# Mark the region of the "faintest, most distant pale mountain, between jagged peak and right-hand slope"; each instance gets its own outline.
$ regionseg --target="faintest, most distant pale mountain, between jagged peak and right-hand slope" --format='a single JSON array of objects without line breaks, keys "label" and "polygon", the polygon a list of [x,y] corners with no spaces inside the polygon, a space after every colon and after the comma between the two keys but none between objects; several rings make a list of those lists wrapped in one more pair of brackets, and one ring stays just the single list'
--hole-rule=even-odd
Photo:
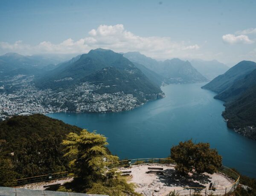
[{"label": "faintest, most distant pale mountain, between jagged peak and right-hand slope", "polygon": [[224,74],[230,68],[216,60],[203,61],[200,59],[193,59],[190,61],[190,63],[193,67],[195,67],[196,70],[198,70],[198,72],[209,80],[212,80],[218,75]]}]

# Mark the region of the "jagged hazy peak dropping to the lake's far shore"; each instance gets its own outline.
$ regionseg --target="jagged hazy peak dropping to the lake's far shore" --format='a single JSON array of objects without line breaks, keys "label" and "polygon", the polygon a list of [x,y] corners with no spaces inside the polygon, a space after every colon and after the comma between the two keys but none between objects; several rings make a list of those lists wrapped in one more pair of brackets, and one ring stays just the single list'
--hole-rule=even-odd
[{"label": "jagged hazy peak dropping to the lake's far shore", "polygon": [[160,75],[168,78],[170,83],[195,83],[208,81],[201,75],[189,61],[181,61],[178,58],[163,61]]}]

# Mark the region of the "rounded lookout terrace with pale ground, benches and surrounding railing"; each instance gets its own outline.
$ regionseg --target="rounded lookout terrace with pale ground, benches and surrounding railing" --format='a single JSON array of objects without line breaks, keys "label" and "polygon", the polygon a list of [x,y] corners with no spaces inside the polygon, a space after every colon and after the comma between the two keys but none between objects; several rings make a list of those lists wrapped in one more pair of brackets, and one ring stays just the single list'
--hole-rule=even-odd
[{"label": "rounded lookout terrace with pale ground, benches and surrounding railing", "polygon": [[166,163],[166,159],[148,159],[151,163],[145,162],[137,161],[137,164],[134,162],[128,167],[118,167],[122,175],[127,176],[128,182],[137,184],[136,192],[145,196],[168,196],[172,191],[180,196],[189,196],[194,192],[204,196],[225,195],[235,190],[239,183],[239,175],[224,166],[213,174],[181,176],[175,170],[175,164]]}]

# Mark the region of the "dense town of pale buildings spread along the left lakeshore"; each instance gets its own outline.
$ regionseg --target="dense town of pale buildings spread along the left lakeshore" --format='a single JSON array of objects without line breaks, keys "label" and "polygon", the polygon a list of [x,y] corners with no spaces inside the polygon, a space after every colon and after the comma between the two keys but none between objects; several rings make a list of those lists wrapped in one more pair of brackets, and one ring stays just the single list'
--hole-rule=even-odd
[{"label": "dense town of pale buildings spread along the left lakeshore", "polygon": [[[137,98],[124,92],[99,94],[102,84],[84,82],[62,91],[38,89],[32,77],[9,80],[9,93],[0,92],[0,121],[13,115],[51,112],[120,112],[140,106]],[[10,87],[11,85],[11,87]],[[4,89],[5,86],[2,86]]]}]

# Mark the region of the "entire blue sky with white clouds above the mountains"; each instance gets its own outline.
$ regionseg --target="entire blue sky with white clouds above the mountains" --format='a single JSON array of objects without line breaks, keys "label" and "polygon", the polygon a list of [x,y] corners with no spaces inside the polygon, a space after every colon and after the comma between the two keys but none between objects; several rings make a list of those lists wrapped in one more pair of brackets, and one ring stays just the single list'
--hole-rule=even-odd
[{"label": "entire blue sky with white clouds above the mountains", "polygon": [[256,0],[0,0],[0,55],[256,61]]}]

